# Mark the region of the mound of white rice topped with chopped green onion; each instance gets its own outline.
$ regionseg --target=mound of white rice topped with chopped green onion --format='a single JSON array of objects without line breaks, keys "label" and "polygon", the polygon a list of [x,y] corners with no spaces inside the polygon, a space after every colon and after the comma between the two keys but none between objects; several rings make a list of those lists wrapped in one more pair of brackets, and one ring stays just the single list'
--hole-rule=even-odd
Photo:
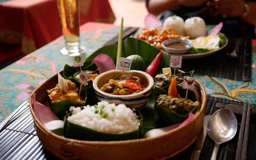
[{"label": "mound of white rice topped with chopped green onion", "polygon": [[124,104],[115,105],[107,101],[98,102],[98,105],[70,107],[72,115],[68,121],[92,130],[120,134],[129,133],[139,128],[138,116]]}]

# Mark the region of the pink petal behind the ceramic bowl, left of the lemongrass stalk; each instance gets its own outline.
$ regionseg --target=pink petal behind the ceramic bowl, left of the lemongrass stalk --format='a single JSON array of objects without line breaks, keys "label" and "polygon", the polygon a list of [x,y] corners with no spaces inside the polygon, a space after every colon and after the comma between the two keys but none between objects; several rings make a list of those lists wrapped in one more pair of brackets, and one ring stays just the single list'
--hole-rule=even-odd
[{"label": "pink petal behind the ceramic bowl, left of the lemongrass stalk", "polygon": [[92,60],[92,63],[95,63],[95,65],[99,68],[100,74],[116,68],[113,59],[104,53],[97,55],[97,57]]}]

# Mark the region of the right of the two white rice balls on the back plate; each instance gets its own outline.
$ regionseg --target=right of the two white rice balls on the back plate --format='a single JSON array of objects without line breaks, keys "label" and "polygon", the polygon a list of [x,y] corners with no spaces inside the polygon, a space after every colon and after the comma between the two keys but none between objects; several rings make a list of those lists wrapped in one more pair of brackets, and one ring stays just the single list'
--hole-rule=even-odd
[{"label": "right of the two white rice balls on the back plate", "polygon": [[206,36],[205,22],[201,17],[191,17],[186,19],[184,28],[185,34],[191,39]]}]

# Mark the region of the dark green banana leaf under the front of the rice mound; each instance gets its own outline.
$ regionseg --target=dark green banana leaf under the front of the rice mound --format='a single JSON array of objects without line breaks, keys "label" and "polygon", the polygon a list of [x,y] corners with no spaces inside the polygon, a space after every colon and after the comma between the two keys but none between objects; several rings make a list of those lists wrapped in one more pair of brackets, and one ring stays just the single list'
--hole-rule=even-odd
[{"label": "dark green banana leaf under the front of the rice mound", "polygon": [[109,134],[102,133],[81,125],[77,125],[66,120],[64,127],[64,136],[78,140],[97,140],[97,141],[118,141],[140,138],[140,130],[129,133]]}]

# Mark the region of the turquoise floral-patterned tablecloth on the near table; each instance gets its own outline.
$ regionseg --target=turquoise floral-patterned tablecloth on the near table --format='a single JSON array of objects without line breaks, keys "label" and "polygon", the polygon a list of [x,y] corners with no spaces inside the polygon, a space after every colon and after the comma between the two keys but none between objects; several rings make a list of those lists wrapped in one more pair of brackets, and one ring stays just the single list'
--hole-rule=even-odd
[{"label": "turquoise floral-patterned tablecloth on the near table", "polygon": [[[103,44],[118,34],[119,28],[100,28],[83,31],[82,45],[87,48],[87,55],[99,49]],[[34,89],[54,73],[62,70],[65,64],[72,65],[72,60],[61,55],[64,46],[63,37],[28,54],[12,65],[0,70],[0,122],[9,116],[21,103],[29,98]],[[244,101],[256,104],[256,53],[253,54],[252,79],[250,82],[231,81],[209,76],[195,77],[201,82],[212,97]]]}]

